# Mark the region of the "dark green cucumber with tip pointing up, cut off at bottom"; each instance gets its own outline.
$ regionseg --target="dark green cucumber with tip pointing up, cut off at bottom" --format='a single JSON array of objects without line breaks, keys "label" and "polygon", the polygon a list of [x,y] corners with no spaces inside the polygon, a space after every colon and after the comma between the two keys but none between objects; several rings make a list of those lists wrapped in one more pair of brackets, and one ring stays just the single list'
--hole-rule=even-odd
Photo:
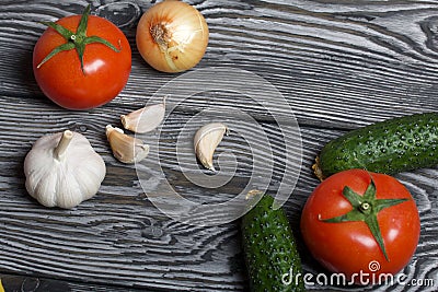
[{"label": "dark green cucumber with tip pointing up, cut off at bottom", "polygon": [[306,291],[289,221],[273,203],[274,198],[264,195],[242,219],[251,291]]}]

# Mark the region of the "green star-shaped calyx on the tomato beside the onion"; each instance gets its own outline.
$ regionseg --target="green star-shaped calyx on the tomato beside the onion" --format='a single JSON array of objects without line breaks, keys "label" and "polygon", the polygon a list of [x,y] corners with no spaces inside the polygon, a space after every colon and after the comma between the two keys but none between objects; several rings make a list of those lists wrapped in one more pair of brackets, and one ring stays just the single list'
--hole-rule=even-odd
[{"label": "green star-shaped calyx on the tomato beside the onion", "polygon": [[45,62],[51,59],[55,55],[66,51],[76,49],[81,61],[81,70],[83,71],[83,54],[85,51],[85,46],[93,43],[100,43],[105,45],[106,47],[111,48],[112,50],[119,52],[120,49],[116,48],[113,44],[108,40],[99,37],[99,36],[87,36],[87,27],[88,21],[90,15],[90,4],[85,8],[84,12],[82,13],[81,20],[79,22],[77,32],[73,33],[70,30],[64,27],[62,25],[55,23],[55,22],[42,22],[43,24],[54,28],[58,32],[67,43],[59,45],[58,47],[54,48],[42,61],[38,63],[36,68],[42,67]]}]

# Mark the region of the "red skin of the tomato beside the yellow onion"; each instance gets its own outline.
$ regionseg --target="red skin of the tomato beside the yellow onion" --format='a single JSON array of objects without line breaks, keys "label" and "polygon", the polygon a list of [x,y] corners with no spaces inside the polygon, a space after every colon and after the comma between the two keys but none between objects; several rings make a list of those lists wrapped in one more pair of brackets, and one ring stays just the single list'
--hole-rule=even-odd
[{"label": "red skin of the tomato beside the yellow onion", "polygon": [[[111,102],[124,89],[131,69],[131,50],[124,33],[110,21],[89,15],[87,36],[99,36],[119,49],[115,51],[101,43],[85,45],[83,71],[77,50],[60,51],[43,63],[42,60],[67,40],[48,27],[34,48],[33,69],[43,93],[58,105],[70,109],[88,109]],[[56,23],[72,33],[81,15],[60,19]]]}]

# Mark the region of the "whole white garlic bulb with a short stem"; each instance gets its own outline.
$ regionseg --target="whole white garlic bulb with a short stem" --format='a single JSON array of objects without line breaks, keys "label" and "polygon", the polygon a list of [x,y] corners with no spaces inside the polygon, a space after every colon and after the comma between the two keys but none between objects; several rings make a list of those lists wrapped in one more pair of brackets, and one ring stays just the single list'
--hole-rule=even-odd
[{"label": "whole white garlic bulb with a short stem", "polygon": [[97,192],[106,167],[84,136],[66,130],[35,142],[24,174],[27,192],[39,203],[70,209]]}]

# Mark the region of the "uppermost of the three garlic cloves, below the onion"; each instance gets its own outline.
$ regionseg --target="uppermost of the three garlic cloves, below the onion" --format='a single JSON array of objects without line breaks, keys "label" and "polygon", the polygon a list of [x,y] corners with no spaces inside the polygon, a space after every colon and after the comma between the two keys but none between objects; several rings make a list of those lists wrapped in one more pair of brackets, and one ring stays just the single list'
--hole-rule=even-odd
[{"label": "uppermost of the three garlic cloves, below the onion", "polygon": [[148,105],[128,115],[122,115],[120,120],[125,129],[145,133],[155,129],[163,120],[164,114],[165,97],[161,104]]}]

